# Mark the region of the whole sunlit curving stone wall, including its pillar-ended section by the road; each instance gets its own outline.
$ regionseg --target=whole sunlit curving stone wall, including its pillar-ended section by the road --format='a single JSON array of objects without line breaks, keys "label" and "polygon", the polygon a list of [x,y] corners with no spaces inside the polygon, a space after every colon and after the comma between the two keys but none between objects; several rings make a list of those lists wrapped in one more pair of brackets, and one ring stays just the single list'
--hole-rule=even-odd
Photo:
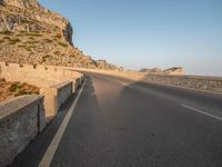
[{"label": "whole sunlit curving stone wall, including its pillar-ended section by the road", "polygon": [[62,104],[82,82],[83,75],[65,67],[0,62],[0,77],[40,87],[44,96],[46,118],[57,115]]}]

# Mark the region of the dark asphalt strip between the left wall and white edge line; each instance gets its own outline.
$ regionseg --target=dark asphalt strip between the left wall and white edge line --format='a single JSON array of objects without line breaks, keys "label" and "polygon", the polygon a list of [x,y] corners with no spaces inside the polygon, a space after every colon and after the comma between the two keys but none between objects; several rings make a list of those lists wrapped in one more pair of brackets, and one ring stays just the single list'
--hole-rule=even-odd
[{"label": "dark asphalt strip between the left wall and white edge line", "polygon": [[10,167],[34,167],[39,165],[69,108],[74,101],[78,91],[73,94],[64,105],[62,105],[54,119],[27,146],[21,154],[16,157]]}]

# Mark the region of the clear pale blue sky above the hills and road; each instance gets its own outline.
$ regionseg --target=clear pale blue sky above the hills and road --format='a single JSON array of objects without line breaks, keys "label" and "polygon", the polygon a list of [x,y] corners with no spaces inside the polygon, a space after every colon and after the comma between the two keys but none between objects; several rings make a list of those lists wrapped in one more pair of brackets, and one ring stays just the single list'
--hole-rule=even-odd
[{"label": "clear pale blue sky above the hills and road", "polygon": [[222,76],[222,0],[39,0],[68,18],[73,43],[125,69]]}]

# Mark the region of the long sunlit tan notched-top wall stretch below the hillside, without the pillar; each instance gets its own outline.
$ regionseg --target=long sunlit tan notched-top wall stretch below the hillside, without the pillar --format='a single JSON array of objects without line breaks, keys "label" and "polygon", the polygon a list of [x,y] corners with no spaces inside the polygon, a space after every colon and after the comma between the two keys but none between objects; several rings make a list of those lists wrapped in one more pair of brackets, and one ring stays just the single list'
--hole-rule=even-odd
[{"label": "long sunlit tan notched-top wall stretch below the hillside, without the pillar", "polygon": [[38,87],[58,85],[80,73],[56,66],[33,66],[0,62],[0,77],[8,81],[22,81]]}]

